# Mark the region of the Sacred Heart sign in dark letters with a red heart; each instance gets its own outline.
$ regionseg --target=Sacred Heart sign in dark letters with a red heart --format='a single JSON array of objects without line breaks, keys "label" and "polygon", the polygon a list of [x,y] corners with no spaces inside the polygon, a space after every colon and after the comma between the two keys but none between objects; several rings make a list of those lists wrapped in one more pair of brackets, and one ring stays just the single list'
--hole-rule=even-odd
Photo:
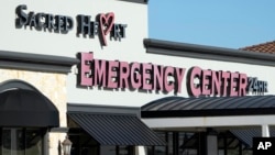
[{"label": "Sacred Heart sign in dark letters with a red heart", "polygon": [[[55,33],[69,33],[75,25],[75,20],[68,15],[52,14],[34,11],[28,11],[25,4],[18,5],[15,9],[15,26],[18,29],[30,26],[31,30],[48,31]],[[107,37],[121,41],[125,37],[127,24],[114,23],[114,13],[99,13],[95,20],[90,15],[76,15],[77,32],[76,35],[94,38],[99,36],[102,46],[107,46]]]}]

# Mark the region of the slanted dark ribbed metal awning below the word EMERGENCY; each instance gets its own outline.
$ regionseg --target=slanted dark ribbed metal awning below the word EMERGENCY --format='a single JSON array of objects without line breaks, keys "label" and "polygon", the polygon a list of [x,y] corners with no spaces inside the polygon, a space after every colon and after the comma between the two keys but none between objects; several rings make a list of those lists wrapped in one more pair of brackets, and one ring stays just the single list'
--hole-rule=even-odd
[{"label": "slanted dark ribbed metal awning below the word EMERGENCY", "polygon": [[100,145],[165,145],[136,115],[68,112]]}]

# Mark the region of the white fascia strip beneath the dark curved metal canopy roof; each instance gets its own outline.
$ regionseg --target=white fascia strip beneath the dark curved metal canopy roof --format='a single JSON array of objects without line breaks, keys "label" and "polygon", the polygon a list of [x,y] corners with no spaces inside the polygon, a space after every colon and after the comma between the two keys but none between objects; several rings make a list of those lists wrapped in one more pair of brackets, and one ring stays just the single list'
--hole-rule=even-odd
[{"label": "white fascia strip beneath the dark curved metal canopy roof", "polygon": [[271,115],[230,115],[230,117],[190,117],[190,118],[153,118],[142,119],[151,129],[197,129],[205,128],[243,128],[275,125],[275,114]]}]

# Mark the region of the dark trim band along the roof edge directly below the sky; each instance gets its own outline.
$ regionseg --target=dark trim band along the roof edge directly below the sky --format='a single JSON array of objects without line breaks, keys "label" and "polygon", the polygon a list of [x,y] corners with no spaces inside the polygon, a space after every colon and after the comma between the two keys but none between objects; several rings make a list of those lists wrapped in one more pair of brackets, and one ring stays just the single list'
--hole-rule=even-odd
[{"label": "dark trim band along the roof edge directly below the sky", "polygon": [[191,58],[275,66],[275,55],[187,43],[144,38],[146,52]]}]

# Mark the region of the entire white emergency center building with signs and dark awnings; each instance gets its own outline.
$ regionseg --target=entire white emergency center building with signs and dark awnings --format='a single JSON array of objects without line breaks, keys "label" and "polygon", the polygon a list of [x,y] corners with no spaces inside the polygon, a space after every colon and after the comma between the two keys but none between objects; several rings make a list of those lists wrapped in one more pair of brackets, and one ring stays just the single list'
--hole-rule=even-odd
[{"label": "entire white emergency center building with signs and dark awnings", "polygon": [[15,0],[0,19],[1,155],[61,155],[66,135],[72,155],[251,154],[272,134],[272,54],[147,38],[144,0]]}]

